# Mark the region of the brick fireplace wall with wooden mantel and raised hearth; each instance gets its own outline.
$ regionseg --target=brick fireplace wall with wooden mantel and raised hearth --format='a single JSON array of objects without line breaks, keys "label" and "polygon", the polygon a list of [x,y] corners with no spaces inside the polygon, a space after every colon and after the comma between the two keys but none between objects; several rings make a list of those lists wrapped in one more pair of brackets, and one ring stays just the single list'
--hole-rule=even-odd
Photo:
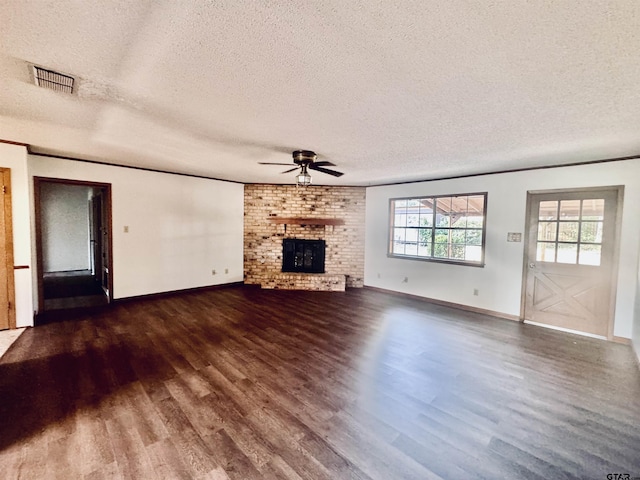
[{"label": "brick fireplace wall with wooden mantel and raised hearth", "polygon": [[[263,288],[362,287],[365,189],[245,185],[244,281]],[[324,273],[283,272],[283,240],[322,240]]]}]

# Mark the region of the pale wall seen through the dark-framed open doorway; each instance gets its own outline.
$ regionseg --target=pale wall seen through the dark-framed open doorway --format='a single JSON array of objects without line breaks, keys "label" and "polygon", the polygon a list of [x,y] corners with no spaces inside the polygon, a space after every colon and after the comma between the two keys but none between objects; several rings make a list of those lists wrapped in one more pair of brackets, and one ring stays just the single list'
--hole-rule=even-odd
[{"label": "pale wall seen through the dark-framed open doorway", "polygon": [[40,217],[45,272],[90,270],[89,187],[42,183]]}]

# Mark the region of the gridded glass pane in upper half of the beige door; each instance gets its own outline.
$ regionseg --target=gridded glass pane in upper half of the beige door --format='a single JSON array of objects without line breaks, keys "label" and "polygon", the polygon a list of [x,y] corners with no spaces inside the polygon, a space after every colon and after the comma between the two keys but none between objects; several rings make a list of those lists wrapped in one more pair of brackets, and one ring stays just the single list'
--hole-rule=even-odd
[{"label": "gridded glass pane in upper half of the beige door", "polygon": [[538,262],[600,265],[604,199],[541,201]]}]

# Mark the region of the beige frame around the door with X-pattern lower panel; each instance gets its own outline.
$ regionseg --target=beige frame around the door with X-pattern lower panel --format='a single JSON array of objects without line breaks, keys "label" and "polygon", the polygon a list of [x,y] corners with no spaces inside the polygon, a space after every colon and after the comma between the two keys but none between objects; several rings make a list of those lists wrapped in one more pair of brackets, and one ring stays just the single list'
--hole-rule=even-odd
[{"label": "beige frame around the door with X-pattern lower panel", "polygon": [[[531,234],[531,207],[533,203],[533,197],[535,195],[547,195],[558,193],[575,193],[575,192],[600,192],[603,190],[614,190],[617,192],[616,198],[616,214],[615,225],[613,229],[613,257],[611,265],[611,278],[609,284],[611,285],[609,291],[609,307],[607,309],[607,340],[616,341],[617,337],[613,334],[615,323],[615,311],[616,311],[616,296],[618,292],[618,268],[620,265],[620,232],[622,228],[622,208],[624,200],[624,185],[607,185],[597,187],[576,187],[576,188],[557,188],[548,190],[528,190],[527,191],[527,204],[525,210],[525,226],[524,226],[524,253],[522,257],[522,292],[520,294],[520,322],[525,321],[525,305],[527,296],[527,268],[529,259],[529,235]],[[598,337],[600,338],[600,337]]]}]

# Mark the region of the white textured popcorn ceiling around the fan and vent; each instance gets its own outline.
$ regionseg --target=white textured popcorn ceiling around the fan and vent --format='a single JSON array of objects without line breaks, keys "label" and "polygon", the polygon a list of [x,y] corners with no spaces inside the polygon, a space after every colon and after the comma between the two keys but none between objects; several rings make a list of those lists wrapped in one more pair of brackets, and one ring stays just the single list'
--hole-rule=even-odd
[{"label": "white textured popcorn ceiling around the fan and vent", "polygon": [[[0,2],[0,139],[291,183],[369,185],[640,153],[637,0]],[[36,87],[30,64],[76,93]]]}]

